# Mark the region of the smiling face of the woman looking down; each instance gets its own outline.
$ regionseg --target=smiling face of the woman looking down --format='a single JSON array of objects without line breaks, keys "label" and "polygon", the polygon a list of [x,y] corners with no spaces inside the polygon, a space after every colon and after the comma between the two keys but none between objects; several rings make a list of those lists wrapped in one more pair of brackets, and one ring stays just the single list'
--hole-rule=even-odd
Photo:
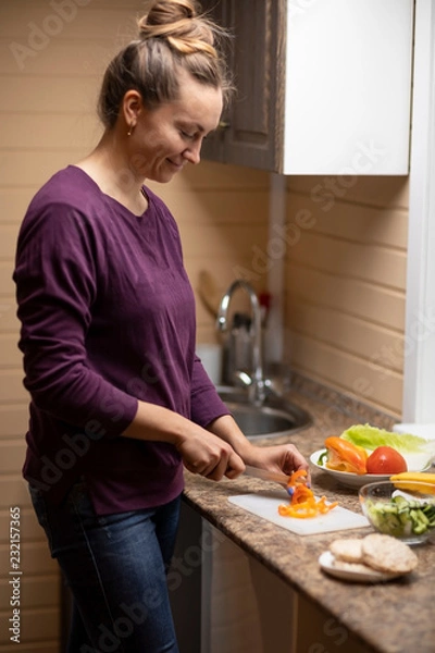
[{"label": "smiling face of the woman looking down", "polygon": [[128,138],[130,165],[142,178],[165,183],[186,163],[199,163],[202,139],[217,127],[222,91],[183,71],[179,98],[148,110],[144,106]]}]

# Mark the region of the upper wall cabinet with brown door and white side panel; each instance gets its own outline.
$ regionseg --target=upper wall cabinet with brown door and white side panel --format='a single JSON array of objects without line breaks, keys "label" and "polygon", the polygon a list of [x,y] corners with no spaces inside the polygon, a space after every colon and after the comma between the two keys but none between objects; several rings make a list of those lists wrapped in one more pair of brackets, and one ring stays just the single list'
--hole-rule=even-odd
[{"label": "upper wall cabinet with brown door and white side panel", "polygon": [[206,0],[237,95],[203,158],[284,174],[408,174],[413,0]]}]

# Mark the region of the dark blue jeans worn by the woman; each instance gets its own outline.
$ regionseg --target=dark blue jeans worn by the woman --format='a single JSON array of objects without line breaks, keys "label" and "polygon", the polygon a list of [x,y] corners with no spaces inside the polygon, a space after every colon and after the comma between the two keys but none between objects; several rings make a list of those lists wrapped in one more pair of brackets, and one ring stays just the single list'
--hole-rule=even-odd
[{"label": "dark blue jeans worn by the woman", "polygon": [[67,652],[177,653],[166,570],[181,497],[98,517],[83,482],[60,507],[30,495],[74,597]]}]

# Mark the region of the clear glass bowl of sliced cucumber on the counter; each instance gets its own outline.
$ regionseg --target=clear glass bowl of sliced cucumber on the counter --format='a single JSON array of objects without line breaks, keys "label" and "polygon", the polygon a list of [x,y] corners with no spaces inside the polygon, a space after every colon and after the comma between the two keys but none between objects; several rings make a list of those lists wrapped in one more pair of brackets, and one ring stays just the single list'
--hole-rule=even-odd
[{"label": "clear glass bowl of sliced cucumber on the counter", "polygon": [[411,545],[435,537],[435,483],[410,479],[368,483],[360,488],[359,500],[380,533]]}]

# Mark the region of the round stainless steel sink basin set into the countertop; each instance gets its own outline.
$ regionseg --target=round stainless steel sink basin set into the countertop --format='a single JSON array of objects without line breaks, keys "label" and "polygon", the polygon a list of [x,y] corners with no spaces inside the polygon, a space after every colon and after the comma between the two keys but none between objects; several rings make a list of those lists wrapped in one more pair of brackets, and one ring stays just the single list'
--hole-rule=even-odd
[{"label": "round stainless steel sink basin set into the countertop", "polygon": [[311,423],[306,410],[275,395],[268,394],[262,406],[254,406],[241,389],[217,386],[217,393],[249,440],[293,435]]}]

